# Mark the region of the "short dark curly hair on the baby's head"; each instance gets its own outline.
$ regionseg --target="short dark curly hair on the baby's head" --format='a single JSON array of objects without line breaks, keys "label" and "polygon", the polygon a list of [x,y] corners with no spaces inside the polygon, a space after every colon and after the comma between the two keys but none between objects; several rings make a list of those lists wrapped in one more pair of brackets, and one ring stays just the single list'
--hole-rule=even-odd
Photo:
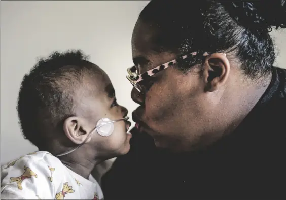
[{"label": "short dark curly hair on the baby's head", "polygon": [[81,50],[55,51],[40,58],[21,83],[18,117],[25,139],[42,146],[45,130],[55,130],[74,116],[74,96],[92,63]]}]

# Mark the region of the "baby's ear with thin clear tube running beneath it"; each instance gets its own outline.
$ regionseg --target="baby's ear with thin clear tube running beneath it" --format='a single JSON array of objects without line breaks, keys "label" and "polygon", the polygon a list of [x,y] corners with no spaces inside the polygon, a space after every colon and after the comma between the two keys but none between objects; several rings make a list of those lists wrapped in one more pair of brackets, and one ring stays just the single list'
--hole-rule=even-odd
[{"label": "baby's ear with thin clear tube running beneath it", "polygon": [[[85,120],[80,117],[68,117],[64,120],[63,130],[66,137],[73,143],[79,145],[88,136],[90,130],[85,123]],[[90,142],[91,138],[86,141]]]}]

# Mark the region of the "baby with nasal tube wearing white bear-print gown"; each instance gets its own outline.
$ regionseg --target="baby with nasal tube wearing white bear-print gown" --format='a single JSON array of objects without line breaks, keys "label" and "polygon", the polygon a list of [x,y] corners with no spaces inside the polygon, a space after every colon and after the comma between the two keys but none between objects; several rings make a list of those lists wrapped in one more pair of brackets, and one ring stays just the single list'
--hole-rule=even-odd
[{"label": "baby with nasal tube wearing white bear-print gown", "polygon": [[1,199],[103,199],[90,173],[132,137],[108,75],[80,50],[54,52],[24,76],[17,110],[39,151],[2,167]]}]

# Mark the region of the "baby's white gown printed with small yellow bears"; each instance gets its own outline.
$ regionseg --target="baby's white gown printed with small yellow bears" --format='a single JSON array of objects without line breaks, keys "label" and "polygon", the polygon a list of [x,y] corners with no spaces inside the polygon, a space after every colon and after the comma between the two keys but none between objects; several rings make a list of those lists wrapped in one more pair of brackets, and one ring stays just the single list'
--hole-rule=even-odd
[{"label": "baby's white gown printed with small yellow bears", "polygon": [[103,199],[103,194],[94,179],[69,170],[49,152],[38,151],[1,168],[1,199]]}]

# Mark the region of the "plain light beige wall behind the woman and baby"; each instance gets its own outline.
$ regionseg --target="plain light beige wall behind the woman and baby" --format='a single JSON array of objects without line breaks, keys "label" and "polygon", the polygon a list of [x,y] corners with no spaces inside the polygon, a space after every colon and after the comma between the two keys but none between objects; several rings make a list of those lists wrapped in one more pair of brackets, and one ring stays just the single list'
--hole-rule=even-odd
[{"label": "plain light beige wall behind the woman and baby", "polygon": [[[118,103],[129,116],[137,105],[125,78],[131,66],[131,35],[149,1],[1,2],[1,164],[37,150],[24,140],[16,111],[20,83],[37,57],[54,50],[82,49],[111,78]],[[273,31],[286,67],[286,32]],[[282,56],[284,55],[284,56]],[[134,123],[132,123],[134,125]]]}]

